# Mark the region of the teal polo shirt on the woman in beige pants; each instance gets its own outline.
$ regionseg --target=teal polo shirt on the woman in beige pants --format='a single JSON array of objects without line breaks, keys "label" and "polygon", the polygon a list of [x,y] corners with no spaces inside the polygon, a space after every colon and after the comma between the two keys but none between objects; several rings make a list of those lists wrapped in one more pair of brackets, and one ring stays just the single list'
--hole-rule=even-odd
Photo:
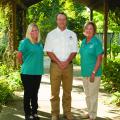
[{"label": "teal polo shirt on the woman in beige pants", "polygon": [[[83,39],[80,47],[81,75],[83,77],[91,76],[96,65],[97,57],[103,53],[102,43],[96,36],[93,36],[88,43],[86,42],[86,38]],[[101,76],[101,74],[102,68],[100,66],[95,76]]]}]

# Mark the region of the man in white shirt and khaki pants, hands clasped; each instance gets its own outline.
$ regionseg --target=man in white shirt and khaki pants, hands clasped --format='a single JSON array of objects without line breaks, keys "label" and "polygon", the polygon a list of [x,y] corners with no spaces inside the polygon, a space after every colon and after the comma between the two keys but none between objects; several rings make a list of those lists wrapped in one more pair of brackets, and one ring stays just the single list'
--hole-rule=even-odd
[{"label": "man in white shirt and khaki pants, hands clasped", "polygon": [[77,37],[66,28],[67,16],[59,13],[56,16],[57,28],[48,33],[44,51],[51,59],[51,114],[52,120],[59,120],[60,85],[63,88],[63,114],[67,120],[73,120],[71,114],[71,90],[73,82],[72,60],[77,53]]}]

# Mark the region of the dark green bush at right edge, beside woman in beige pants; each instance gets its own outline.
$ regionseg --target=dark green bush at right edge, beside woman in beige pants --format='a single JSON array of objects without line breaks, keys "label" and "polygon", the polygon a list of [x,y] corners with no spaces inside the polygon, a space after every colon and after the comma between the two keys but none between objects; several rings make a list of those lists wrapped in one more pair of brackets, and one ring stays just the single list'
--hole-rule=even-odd
[{"label": "dark green bush at right edge, beside woman in beige pants", "polygon": [[108,60],[103,69],[102,82],[106,91],[120,92],[120,58]]}]

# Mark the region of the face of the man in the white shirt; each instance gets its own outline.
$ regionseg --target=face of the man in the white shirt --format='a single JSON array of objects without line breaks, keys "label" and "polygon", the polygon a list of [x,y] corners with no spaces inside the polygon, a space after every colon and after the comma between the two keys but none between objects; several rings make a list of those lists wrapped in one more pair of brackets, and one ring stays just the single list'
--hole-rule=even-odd
[{"label": "face of the man in the white shirt", "polygon": [[66,16],[59,14],[57,16],[57,26],[61,29],[64,30],[66,28],[66,24],[67,24],[67,20],[66,20]]}]

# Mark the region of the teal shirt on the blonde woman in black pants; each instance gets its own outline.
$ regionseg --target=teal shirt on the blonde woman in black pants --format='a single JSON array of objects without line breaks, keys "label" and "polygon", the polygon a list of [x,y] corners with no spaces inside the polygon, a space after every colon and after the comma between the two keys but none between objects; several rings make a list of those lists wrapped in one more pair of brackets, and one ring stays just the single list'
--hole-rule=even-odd
[{"label": "teal shirt on the blonde woman in black pants", "polygon": [[18,51],[22,52],[23,64],[21,74],[43,74],[43,46],[40,43],[33,44],[27,38],[20,41]]}]

